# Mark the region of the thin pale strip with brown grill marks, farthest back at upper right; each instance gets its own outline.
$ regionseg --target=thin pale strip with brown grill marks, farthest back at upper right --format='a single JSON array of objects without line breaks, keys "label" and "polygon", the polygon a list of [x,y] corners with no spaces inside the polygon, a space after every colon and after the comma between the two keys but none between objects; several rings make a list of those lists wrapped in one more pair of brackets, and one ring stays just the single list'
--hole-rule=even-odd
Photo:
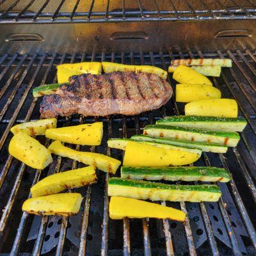
[{"label": "thin pale strip with brown grill marks, farthest back at upper right", "polygon": [[232,61],[230,59],[188,59],[188,60],[172,60],[173,66],[221,66],[232,67]]}]

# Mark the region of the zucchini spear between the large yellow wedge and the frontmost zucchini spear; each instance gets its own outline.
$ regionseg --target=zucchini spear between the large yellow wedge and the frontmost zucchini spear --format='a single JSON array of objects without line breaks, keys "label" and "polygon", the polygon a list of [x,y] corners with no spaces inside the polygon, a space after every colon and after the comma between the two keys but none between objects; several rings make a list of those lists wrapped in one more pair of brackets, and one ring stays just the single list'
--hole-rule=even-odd
[{"label": "zucchini spear between the large yellow wedge and the frontmost zucchini spear", "polygon": [[122,166],[121,177],[135,180],[184,180],[205,182],[228,182],[230,175],[224,168],[217,167],[128,167]]}]

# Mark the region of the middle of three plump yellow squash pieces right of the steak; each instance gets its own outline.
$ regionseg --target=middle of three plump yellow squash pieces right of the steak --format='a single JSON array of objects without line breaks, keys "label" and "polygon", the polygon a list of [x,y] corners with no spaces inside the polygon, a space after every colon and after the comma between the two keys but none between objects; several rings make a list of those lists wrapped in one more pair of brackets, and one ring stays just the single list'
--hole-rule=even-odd
[{"label": "middle of three plump yellow squash pieces right of the steak", "polygon": [[176,101],[191,102],[204,99],[220,99],[221,92],[211,85],[176,84]]}]

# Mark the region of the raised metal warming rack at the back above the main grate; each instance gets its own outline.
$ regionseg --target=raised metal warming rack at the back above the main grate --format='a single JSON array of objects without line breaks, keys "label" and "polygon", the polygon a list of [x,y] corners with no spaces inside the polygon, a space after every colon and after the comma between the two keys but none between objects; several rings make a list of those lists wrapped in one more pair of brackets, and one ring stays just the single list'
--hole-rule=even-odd
[{"label": "raised metal warming rack at the back above the main grate", "polygon": [[255,18],[255,0],[0,1],[0,23],[8,24]]}]

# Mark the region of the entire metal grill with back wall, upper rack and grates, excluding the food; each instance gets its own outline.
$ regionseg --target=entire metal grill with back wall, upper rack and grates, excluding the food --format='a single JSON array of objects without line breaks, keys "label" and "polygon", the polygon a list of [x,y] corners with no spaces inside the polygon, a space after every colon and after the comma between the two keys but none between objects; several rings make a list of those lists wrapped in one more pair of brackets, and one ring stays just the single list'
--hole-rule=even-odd
[{"label": "entire metal grill with back wall, upper rack and grates, excluding the food", "polygon": [[[255,0],[0,0],[0,256],[256,255],[255,19]],[[56,65],[113,61],[167,70],[170,61],[179,58],[233,62],[212,81],[222,97],[236,99],[239,116],[248,125],[236,148],[225,155],[204,153],[195,163],[230,172],[230,182],[218,182],[219,202],[158,202],[188,213],[184,223],[113,221],[108,215],[109,174],[97,171],[97,184],[72,190],[84,196],[77,216],[21,211],[38,180],[83,166],[53,156],[52,164],[40,171],[8,154],[10,128],[40,118],[42,99],[33,98],[32,90],[56,83]],[[168,81],[174,89],[172,76]],[[138,116],[74,115],[58,118],[58,127],[103,121],[100,146],[67,147],[122,161],[120,150],[107,147],[108,138],[129,138],[164,116],[183,114],[184,104],[172,97],[162,108]],[[51,143],[44,136],[38,140],[45,146]]]}]

